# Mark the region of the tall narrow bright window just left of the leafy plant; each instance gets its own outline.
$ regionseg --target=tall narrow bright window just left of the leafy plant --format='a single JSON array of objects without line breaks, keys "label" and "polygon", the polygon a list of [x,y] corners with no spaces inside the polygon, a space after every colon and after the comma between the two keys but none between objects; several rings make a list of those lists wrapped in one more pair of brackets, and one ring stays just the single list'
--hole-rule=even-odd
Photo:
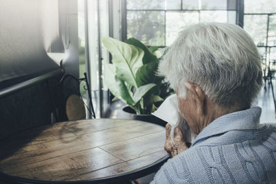
[{"label": "tall narrow bright window just left of the leafy plant", "polygon": [[[103,83],[102,75],[103,63],[109,63],[109,54],[99,43],[99,38],[109,36],[108,0],[78,0],[78,8],[79,76],[83,77],[83,72],[90,73],[89,90],[96,117],[99,118],[109,106],[108,88]],[[80,87],[81,94],[88,98],[83,85]]]}]

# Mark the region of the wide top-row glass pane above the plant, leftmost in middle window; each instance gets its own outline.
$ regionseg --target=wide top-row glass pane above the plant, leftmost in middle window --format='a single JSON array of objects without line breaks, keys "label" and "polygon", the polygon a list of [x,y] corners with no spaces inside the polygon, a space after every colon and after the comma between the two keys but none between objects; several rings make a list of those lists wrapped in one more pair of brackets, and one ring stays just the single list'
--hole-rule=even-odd
[{"label": "wide top-row glass pane above the plant, leftmost in middle window", "polygon": [[126,0],[127,10],[164,10],[165,0]]}]

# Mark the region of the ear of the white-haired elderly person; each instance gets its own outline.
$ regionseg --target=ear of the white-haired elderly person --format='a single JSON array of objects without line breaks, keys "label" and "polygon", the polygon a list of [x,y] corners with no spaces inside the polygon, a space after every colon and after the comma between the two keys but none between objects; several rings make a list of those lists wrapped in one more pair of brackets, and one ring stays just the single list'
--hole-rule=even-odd
[{"label": "ear of the white-haired elderly person", "polygon": [[204,99],[205,99],[204,91],[201,90],[201,88],[198,85],[193,83],[184,82],[184,85],[187,88],[187,90],[189,90],[193,94],[193,98],[195,99],[197,114],[199,114],[199,116],[203,116]]}]

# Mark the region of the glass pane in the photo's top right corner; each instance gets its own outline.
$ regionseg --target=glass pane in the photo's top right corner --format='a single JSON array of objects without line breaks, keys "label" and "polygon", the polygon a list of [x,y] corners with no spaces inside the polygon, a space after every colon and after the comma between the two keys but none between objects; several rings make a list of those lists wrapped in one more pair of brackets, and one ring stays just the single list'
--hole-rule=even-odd
[{"label": "glass pane in the photo's top right corner", "polygon": [[275,10],[275,0],[244,0],[244,13],[274,13]]}]

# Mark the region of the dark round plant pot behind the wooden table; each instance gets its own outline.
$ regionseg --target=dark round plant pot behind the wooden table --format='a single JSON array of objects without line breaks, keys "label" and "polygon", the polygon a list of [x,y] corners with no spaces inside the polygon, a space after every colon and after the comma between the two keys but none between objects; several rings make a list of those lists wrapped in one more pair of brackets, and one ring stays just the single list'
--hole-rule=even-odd
[{"label": "dark round plant pot behind the wooden table", "polygon": [[147,121],[164,127],[166,127],[166,124],[167,124],[166,121],[163,121],[157,118],[157,116],[153,116],[152,114],[136,114],[135,110],[132,110],[132,108],[130,108],[129,106],[126,106],[122,109],[121,118]]}]

